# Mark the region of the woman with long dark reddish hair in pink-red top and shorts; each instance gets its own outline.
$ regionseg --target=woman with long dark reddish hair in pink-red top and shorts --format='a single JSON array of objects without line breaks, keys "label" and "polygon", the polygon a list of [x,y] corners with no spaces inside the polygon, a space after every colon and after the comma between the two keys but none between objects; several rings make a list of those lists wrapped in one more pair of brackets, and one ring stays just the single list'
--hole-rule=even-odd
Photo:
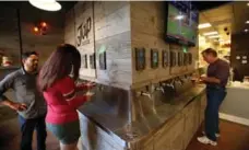
[{"label": "woman with long dark reddish hair in pink-red top and shorts", "polygon": [[[84,104],[91,95],[75,95],[76,90],[87,89],[86,85],[75,86],[79,77],[81,55],[69,44],[57,47],[43,66],[38,86],[47,102],[46,125],[60,141],[61,150],[76,150],[80,138],[80,123],[76,108]],[[72,73],[72,77],[70,74]]]}]

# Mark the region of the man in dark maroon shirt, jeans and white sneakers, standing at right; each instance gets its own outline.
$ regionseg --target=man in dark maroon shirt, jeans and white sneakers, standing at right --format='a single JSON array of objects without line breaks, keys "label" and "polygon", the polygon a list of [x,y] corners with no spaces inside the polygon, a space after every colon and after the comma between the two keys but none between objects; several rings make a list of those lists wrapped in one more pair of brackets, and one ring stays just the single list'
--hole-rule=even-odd
[{"label": "man in dark maroon shirt, jeans and white sneakers, standing at right", "polygon": [[226,84],[229,78],[229,65],[217,57],[217,53],[208,48],[202,51],[204,60],[209,64],[206,77],[201,80],[206,84],[205,132],[198,140],[205,145],[216,146],[220,136],[218,108],[226,96]]}]

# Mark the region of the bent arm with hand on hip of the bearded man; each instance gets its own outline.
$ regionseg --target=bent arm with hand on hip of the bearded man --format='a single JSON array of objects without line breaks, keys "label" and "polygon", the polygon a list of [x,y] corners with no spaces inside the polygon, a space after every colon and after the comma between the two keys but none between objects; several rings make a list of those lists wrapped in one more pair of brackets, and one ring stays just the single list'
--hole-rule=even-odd
[{"label": "bent arm with hand on hip of the bearded man", "polygon": [[10,101],[5,95],[5,91],[9,89],[13,89],[14,83],[14,74],[8,74],[3,80],[0,81],[0,104],[11,107],[15,111],[24,111],[26,109],[25,104],[15,103]]}]

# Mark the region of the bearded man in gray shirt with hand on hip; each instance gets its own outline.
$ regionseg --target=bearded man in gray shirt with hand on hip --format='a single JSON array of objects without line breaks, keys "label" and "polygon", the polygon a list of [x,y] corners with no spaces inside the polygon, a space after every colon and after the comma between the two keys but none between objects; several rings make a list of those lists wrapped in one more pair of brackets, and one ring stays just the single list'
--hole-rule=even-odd
[{"label": "bearded man in gray shirt with hand on hip", "polygon": [[[23,68],[8,74],[0,81],[0,104],[7,105],[19,113],[22,131],[21,150],[32,150],[34,129],[37,131],[37,148],[46,150],[46,104],[36,88],[38,55],[35,51],[24,53]],[[12,89],[16,102],[3,95]]]}]

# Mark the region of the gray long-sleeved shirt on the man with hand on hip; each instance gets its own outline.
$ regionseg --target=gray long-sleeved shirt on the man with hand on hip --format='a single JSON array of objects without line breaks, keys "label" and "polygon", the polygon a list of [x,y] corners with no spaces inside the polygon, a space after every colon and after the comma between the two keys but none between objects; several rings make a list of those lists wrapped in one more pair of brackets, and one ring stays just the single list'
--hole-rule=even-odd
[{"label": "gray long-sleeved shirt on the man with hand on hip", "polygon": [[3,95],[9,89],[13,89],[16,101],[24,103],[27,109],[17,112],[24,118],[37,118],[44,116],[47,112],[46,103],[40,92],[36,86],[36,74],[31,74],[19,69],[8,74],[0,82],[0,101],[7,100]]}]

